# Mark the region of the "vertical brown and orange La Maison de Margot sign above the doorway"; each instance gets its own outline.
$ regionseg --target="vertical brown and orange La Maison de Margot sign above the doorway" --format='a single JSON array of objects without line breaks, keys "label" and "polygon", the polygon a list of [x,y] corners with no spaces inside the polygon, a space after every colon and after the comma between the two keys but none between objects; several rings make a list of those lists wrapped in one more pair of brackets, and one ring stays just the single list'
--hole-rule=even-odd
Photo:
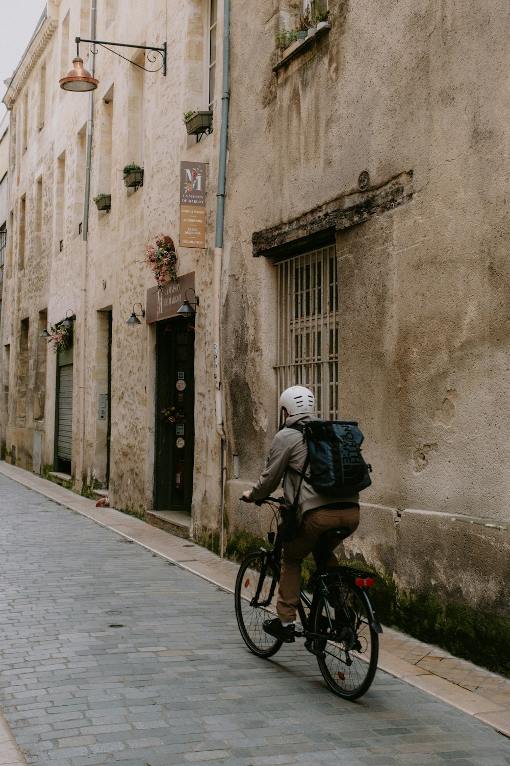
[{"label": "vertical brown and orange La Maison de Margot sign above the doorway", "polygon": [[206,163],[180,163],[180,247],[206,247]]}]

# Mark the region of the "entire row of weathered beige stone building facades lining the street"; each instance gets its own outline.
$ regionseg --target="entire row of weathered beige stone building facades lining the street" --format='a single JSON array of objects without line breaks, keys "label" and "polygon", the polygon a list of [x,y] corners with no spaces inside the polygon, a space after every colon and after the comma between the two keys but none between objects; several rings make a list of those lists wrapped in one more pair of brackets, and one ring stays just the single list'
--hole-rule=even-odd
[{"label": "entire row of weathered beige stone building facades lining the street", "polygon": [[[167,41],[166,77],[99,48],[93,96],[59,89],[96,5],[96,39]],[[219,3],[217,16],[213,0],[151,0],[132,40],[136,5],[50,0],[5,94],[6,459],[107,487],[117,508],[188,513],[195,538],[264,534],[239,496],[264,465],[279,391],[302,382],[323,417],[359,421],[374,466],[346,557],[401,591],[508,617],[505,3],[338,0],[284,50],[274,35],[297,25],[299,0]],[[208,106],[213,133],[197,142],[182,113]],[[144,167],[136,191],[128,162]],[[153,310],[144,245],[179,241],[181,162],[206,165],[206,247],[177,250],[200,297],[194,332],[164,316],[126,326]],[[109,213],[91,202],[100,191]],[[39,336],[67,312],[73,345],[55,355]],[[168,424],[171,407],[184,417]]]}]

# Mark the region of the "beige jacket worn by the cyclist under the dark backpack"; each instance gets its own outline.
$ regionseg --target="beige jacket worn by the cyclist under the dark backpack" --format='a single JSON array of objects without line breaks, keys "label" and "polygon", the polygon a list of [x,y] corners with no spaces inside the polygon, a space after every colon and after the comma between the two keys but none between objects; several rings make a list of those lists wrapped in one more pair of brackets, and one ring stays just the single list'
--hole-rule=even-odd
[{"label": "beige jacket worn by the cyclist under the dark backpack", "polygon": [[[299,487],[300,472],[303,470],[308,450],[303,434],[290,426],[294,425],[294,423],[304,424],[315,420],[317,420],[317,417],[310,414],[287,417],[284,428],[279,430],[273,439],[265,470],[259,476],[250,493],[251,500],[263,500],[271,495],[275,489],[278,489],[283,477],[285,502],[289,505],[294,502],[294,497]],[[300,489],[299,505],[297,507],[297,522],[300,524],[304,513],[307,511],[311,511],[313,508],[328,506],[332,502],[359,504],[359,493],[349,497],[320,495],[307,480],[303,480]]]}]

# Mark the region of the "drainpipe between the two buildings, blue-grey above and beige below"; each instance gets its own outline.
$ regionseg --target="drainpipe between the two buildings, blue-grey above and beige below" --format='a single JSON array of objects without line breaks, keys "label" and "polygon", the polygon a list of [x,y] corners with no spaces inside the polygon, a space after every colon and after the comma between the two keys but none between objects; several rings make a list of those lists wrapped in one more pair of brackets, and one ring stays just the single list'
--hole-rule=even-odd
[{"label": "drainpipe between the two buildings, blue-grey above and beige below", "polygon": [[213,351],[214,381],[216,396],[216,431],[222,440],[221,449],[221,506],[219,530],[219,554],[223,557],[223,525],[225,516],[225,473],[226,473],[226,436],[223,429],[223,407],[221,398],[221,275],[223,262],[223,223],[225,219],[225,178],[226,178],[226,143],[229,130],[229,83],[230,83],[230,0],[223,5],[223,85],[222,113],[219,133],[218,191],[216,193],[216,242],[214,247],[213,269]]}]

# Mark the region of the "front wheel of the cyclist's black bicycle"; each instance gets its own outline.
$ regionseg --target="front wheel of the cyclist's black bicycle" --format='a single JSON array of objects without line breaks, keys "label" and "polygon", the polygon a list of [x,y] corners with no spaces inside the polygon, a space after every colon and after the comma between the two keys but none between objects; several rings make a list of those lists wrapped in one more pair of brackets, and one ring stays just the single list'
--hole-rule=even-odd
[{"label": "front wheel of the cyclist's black bicycle", "polygon": [[242,639],[258,657],[271,657],[281,647],[262,627],[276,615],[277,590],[278,573],[268,555],[258,551],[247,556],[236,579],[236,617]]}]

